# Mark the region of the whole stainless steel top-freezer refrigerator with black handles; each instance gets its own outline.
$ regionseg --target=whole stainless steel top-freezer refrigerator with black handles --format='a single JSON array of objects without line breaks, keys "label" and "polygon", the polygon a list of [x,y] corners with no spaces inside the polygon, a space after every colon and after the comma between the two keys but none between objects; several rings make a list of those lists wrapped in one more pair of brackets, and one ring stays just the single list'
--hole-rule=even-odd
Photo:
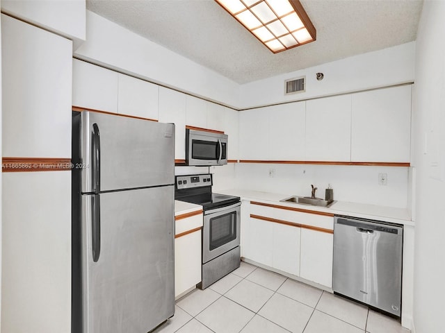
[{"label": "whole stainless steel top-freezer refrigerator with black handles", "polygon": [[146,333],[175,311],[175,126],[72,120],[72,333]]}]

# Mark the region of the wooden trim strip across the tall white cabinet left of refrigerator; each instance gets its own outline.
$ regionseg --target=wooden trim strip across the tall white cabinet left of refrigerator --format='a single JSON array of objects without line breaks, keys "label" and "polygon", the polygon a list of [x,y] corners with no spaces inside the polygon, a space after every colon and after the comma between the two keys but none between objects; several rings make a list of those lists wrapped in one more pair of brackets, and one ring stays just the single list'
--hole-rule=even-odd
[{"label": "wooden trim strip across the tall white cabinet left of refrigerator", "polygon": [[2,157],[1,172],[71,171],[70,158]]}]

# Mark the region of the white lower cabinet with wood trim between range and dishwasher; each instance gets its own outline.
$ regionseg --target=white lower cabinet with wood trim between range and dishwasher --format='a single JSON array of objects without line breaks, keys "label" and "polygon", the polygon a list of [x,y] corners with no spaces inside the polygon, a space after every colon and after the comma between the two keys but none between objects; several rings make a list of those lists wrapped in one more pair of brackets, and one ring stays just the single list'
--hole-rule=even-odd
[{"label": "white lower cabinet with wood trim between range and dishwasher", "polygon": [[243,257],[332,288],[334,216],[243,201]]}]

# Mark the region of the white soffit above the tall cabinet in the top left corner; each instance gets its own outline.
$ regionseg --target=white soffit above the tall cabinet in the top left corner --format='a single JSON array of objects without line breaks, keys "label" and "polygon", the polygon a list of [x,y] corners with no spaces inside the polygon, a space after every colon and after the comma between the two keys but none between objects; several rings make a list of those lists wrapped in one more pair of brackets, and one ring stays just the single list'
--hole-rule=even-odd
[{"label": "white soffit above the tall cabinet in the top left corner", "polygon": [[74,42],[85,40],[86,0],[2,0],[1,12]]}]

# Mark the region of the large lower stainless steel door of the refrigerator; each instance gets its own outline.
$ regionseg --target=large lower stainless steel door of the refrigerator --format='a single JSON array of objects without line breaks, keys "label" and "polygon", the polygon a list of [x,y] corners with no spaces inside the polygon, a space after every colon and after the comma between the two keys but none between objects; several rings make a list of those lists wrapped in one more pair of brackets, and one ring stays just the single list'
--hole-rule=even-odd
[{"label": "large lower stainless steel door of the refrigerator", "polygon": [[83,333],[146,333],[175,311],[174,188],[99,196],[97,261],[95,199],[82,196]]}]

